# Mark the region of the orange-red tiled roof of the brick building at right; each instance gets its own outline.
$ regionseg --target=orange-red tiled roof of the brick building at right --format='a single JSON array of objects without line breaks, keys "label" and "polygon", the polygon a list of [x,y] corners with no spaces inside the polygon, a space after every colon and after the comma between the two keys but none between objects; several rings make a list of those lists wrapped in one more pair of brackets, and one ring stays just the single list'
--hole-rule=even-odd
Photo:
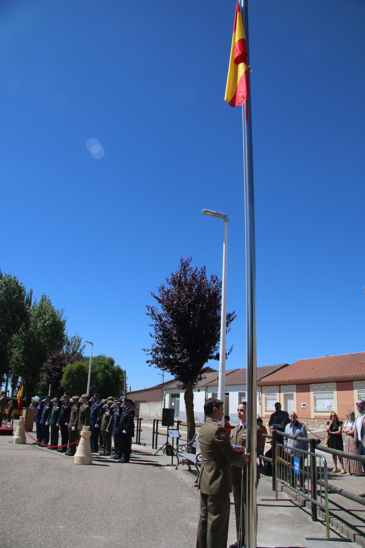
[{"label": "orange-red tiled roof of the brick building at right", "polygon": [[275,373],[265,376],[260,384],[282,384],[293,381],[341,379],[362,376],[365,379],[365,352],[298,359]]}]

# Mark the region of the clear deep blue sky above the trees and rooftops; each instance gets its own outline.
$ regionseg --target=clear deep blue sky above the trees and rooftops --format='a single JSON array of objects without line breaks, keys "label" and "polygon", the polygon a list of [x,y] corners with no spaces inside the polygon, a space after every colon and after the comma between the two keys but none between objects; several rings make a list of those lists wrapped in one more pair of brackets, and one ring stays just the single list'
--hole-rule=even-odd
[{"label": "clear deep blue sky above the trees and rooftops", "polygon": [[[249,9],[258,366],[362,351],[365,3]],[[0,267],[64,307],[132,390],[160,381],[142,351],[149,291],[181,256],[222,276],[223,222],[203,208],[229,215],[227,368],[245,367],[241,110],[223,101],[234,13],[0,7]]]}]

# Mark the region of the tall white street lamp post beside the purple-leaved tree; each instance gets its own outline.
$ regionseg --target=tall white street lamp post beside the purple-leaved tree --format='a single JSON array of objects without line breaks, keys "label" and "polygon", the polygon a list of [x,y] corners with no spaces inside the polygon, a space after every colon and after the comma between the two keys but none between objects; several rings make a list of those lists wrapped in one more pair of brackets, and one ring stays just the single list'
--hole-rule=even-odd
[{"label": "tall white street lamp post beside the purple-leaved tree", "polygon": [[[221,340],[219,343],[219,377],[218,377],[218,399],[223,402],[223,410],[225,403],[225,337],[227,331],[227,224],[228,215],[219,213],[211,209],[203,209],[202,214],[210,215],[223,219],[224,236],[223,236],[223,273],[222,273],[222,309],[221,309]],[[224,424],[224,415],[221,421]]]}]

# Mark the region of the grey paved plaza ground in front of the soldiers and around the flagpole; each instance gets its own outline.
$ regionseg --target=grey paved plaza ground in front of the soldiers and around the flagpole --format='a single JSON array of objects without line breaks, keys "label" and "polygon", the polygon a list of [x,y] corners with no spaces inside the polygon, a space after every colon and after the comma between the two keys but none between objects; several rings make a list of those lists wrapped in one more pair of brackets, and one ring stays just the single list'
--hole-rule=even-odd
[{"label": "grey paved plaza ground in front of the soldiers and around the flagpole", "polygon": [[[195,546],[199,493],[186,467],[175,471],[171,458],[153,456],[148,447],[133,446],[129,464],[96,456],[93,464],[74,465],[72,458],[0,437],[2,548],[88,548],[122,544],[134,547]],[[175,460],[175,459],[174,459]],[[262,547],[324,546],[322,522],[284,493],[273,498],[271,482],[258,488],[258,538]],[[331,531],[333,548],[343,546]],[[228,542],[235,541],[234,506]]]}]

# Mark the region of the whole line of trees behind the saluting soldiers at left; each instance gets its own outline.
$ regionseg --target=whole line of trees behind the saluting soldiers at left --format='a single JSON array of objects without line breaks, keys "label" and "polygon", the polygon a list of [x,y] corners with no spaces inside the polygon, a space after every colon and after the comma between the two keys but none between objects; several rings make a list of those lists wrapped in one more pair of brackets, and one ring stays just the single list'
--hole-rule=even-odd
[{"label": "whole line of trees behind the saluting soldiers at left", "polygon": [[[28,405],[32,396],[61,390],[86,391],[89,358],[78,333],[68,336],[64,309],[55,309],[48,295],[33,298],[16,276],[0,270],[0,384],[10,392],[24,381]],[[91,364],[90,393],[120,396],[124,373],[112,357],[95,356]]]}]

